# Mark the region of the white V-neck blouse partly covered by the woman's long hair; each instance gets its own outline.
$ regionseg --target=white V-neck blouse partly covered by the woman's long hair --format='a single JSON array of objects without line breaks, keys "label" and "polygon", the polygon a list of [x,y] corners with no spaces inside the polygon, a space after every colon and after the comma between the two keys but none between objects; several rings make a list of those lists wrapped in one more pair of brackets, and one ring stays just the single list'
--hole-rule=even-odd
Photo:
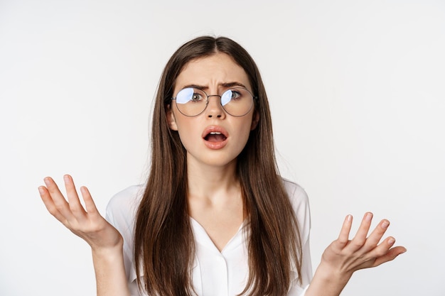
[{"label": "white V-neck blouse partly covered by the woman's long hair", "polygon": [[[292,207],[299,223],[303,246],[302,285],[298,282],[296,270],[293,272],[291,288],[287,295],[303,296],[312,278],[311,254],[309,251],[309,231],[311,218],[306,192],[293,182],[284,180],[284,187],[291,199]],[[134,266],[134,219],[137,207],[144,195],[144,186],[132,186],[112,197],[107,206],[106,219],[124,238],[124,264],[129,290],[134,296],[143,296],[136,283]],[[195,237],[195,261],[193,263],[193,288],[198,296],[232,296],[244,290],[249,275],[247,258],[247,231],[245,224],[230,239],[223,251],[216,248],[208,234],[195,219],[191,218]]]}]

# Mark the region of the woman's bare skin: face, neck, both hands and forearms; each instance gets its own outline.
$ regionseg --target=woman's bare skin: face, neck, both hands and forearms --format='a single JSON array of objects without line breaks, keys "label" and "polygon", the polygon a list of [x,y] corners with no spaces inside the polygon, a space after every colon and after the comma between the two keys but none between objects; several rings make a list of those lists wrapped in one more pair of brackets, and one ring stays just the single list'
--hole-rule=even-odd
[{"label": "woman's bare skin: face, neck, both hands and forearms", "polygon": [[[248,81],[241,67],[229,56],[218,53],[189,62],[176,80],[174,93],[187,85],[198,84],[205,87],[208,94],[221,94],[227,82],[244,84],[250,89]],[[257,126],[258,116],[254,109],[242,117],[230,116],[219,100],[210,97],[207,109],[195,117],[184,116],[172,104],[167,121],[172,130],[178,131],[187,150],[189,214],[204,227],[221,251],[245,216],[235,169],[237,155],[247,143],[250,131]],[[208,126],[220,126],[227,131],[227,144],[223,148],[205,145],[203,131]],[[44,181],[45,186],[38,190],[48,212],[92,248],[97,295],[129,295],[122,236],[97,211],[90,192],[80,187],[84,209],[72,177],[64,177],[68,200],[53,179],[46,177]],[[372,214],[366,213],[357,234],[349,239],[353,218],[346,216],[338,239],[324,251],[306,296],[338,296],[356,270],[392,261],[406,251],[402,246],[393,247],[395,239],[391,236],[382,239],[389,221],[383,219],[370,232],[371,221]]]}]

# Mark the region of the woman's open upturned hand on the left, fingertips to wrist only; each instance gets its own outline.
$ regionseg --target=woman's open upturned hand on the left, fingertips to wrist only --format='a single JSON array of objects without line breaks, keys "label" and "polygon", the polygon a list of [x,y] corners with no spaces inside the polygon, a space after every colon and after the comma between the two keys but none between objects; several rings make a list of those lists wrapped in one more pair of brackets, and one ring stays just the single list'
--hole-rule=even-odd
[{"label": "woman's open upturned hand on the left, fingertips to wrist only", "polygon": [[70,175],[65,175],[63,180],[65,181],[68,202],[51,177],[45,177],[46,187],[38,187],[48,212],[70,231],[90,244],[93,251],[122,248],[122,236],[97,211],[87,187],[80,187],[85,202],[84,209],[80,204],[73,178]]}]

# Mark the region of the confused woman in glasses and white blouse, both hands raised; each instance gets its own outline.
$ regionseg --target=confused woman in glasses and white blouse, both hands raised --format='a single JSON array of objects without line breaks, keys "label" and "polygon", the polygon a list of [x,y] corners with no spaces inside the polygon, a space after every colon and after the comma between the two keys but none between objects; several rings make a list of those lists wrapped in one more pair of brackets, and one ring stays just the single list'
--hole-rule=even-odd
[{"label": "confused woman in glasses and white blouse, both hands raised", "polygon": [[[179,48],[159,84],[151,172],[117,194],[107,220],[65,176],[50,177],[48,211],[92,247],[97,295],[339,295],[355,270],[406,251],[347,216],[311,280],[305,192],[277,172],[267,95],[252,57],[228,38]],[[310,285],[309,285],[310,282]]]}]

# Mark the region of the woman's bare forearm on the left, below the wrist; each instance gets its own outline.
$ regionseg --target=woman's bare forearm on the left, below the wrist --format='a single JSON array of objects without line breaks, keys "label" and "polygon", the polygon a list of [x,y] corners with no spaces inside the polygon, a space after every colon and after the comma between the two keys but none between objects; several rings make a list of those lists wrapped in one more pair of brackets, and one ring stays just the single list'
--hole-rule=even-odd
[{"label": "woman's bare forearm on the left, below the wrist", "polygon": [[129,296],[122,245],[107,250],[92,249],[97,296]]}]

